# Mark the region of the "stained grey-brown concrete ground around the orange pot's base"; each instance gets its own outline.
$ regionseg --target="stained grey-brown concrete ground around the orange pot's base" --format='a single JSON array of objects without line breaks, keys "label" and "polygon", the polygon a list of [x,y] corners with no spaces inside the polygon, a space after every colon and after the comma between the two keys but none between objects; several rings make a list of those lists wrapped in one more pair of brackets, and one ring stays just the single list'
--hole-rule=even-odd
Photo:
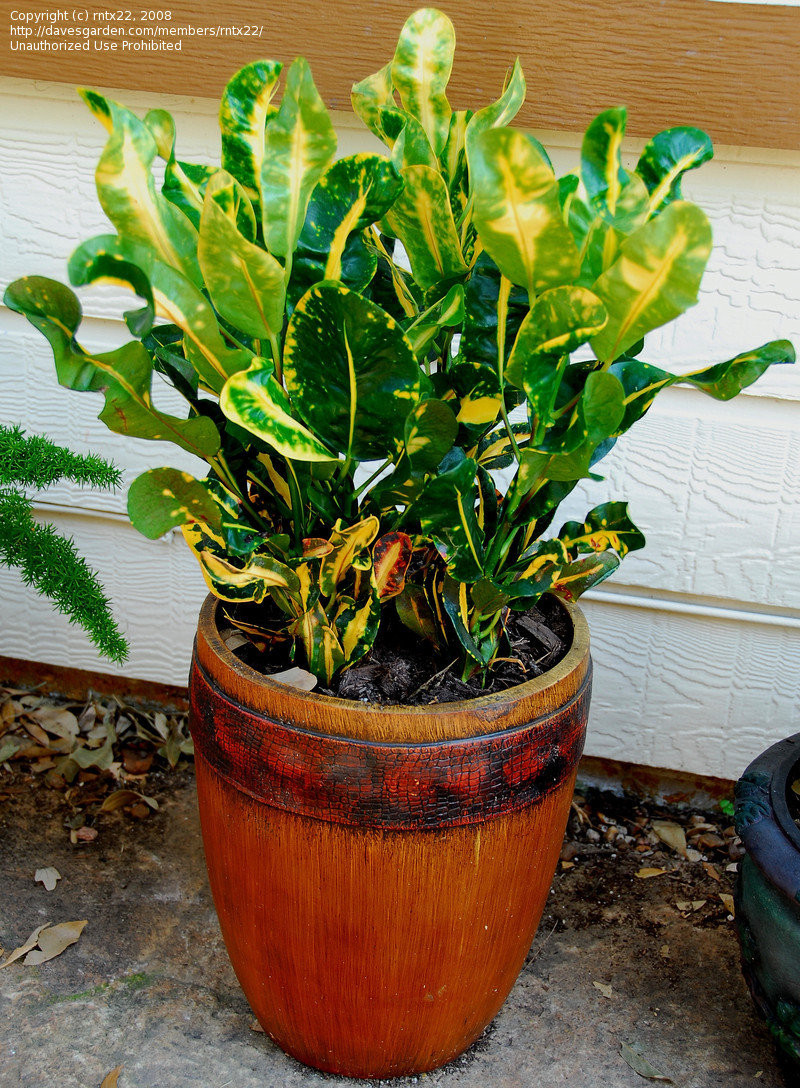
[{"label": "stained grey-brown concrete ground around the orange pot's base", "polygon": [[[95,1088],[116,1066],[120,1088],[364,1084],[308,1070],[253,1029],[208,889],[190,767],[147,792],[158,812],[111,813],[95,841],[75,845],[60,796],[21,775],[0,780],[5,954],[45,922],[88,919],[57,959],[0,972],[2,1088]],[[680,1088],[781,1086],[725,907],[676,907],[711,904],[730,874],[719,882],[681,863],[637,879],[642,864],[632,851],[581,845],[559,869],[526,967],[484,1036],[451,1066],[392,1083],[657,1083],[629,1067],[627,1044]],[[34,882],[44,866],[62,876],[53,891]]]}]

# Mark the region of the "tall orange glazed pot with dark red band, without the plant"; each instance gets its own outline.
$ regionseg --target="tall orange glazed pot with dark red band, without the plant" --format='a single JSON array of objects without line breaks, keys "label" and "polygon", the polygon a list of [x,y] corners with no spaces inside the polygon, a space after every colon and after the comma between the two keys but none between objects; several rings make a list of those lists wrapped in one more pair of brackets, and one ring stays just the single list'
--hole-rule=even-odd
[{"label": "tall orange glazed pot with dark red band, without the plant", "polygon": [[308,1065],[422,1073],[490,1023],[547,898],[591,687],[582,614],[550,672],[432,706],[316,695],[200,613],[190,726],[222,935],[264,1031]]}]

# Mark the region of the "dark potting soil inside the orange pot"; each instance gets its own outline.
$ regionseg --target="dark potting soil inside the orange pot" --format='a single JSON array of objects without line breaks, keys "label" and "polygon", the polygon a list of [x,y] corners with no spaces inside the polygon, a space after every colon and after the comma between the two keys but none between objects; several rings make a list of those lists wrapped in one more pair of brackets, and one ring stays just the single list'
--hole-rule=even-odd
[{"label": "dark potting soil inside the orange pot", "polygon": [[[510,614],[506,623],[509,643],[506,656],[499,658],[483,685],[480,676],[467,681],[459,678],[460,668],[454,651],[438,652],[431,643],[409,631],[393,608],[384,613],[370,653],[335,677],[330,688],[318,684],[315,693],[406,706],[475,698],[546,672],[564,657],[571,640],[569,619],[553,597],[542,597],[527,613]],[[285,656],[278,659],[274,653],[268,660],[251,643],[235,648],[234,653],[243,664],[266,676],[300,664]]]}]

